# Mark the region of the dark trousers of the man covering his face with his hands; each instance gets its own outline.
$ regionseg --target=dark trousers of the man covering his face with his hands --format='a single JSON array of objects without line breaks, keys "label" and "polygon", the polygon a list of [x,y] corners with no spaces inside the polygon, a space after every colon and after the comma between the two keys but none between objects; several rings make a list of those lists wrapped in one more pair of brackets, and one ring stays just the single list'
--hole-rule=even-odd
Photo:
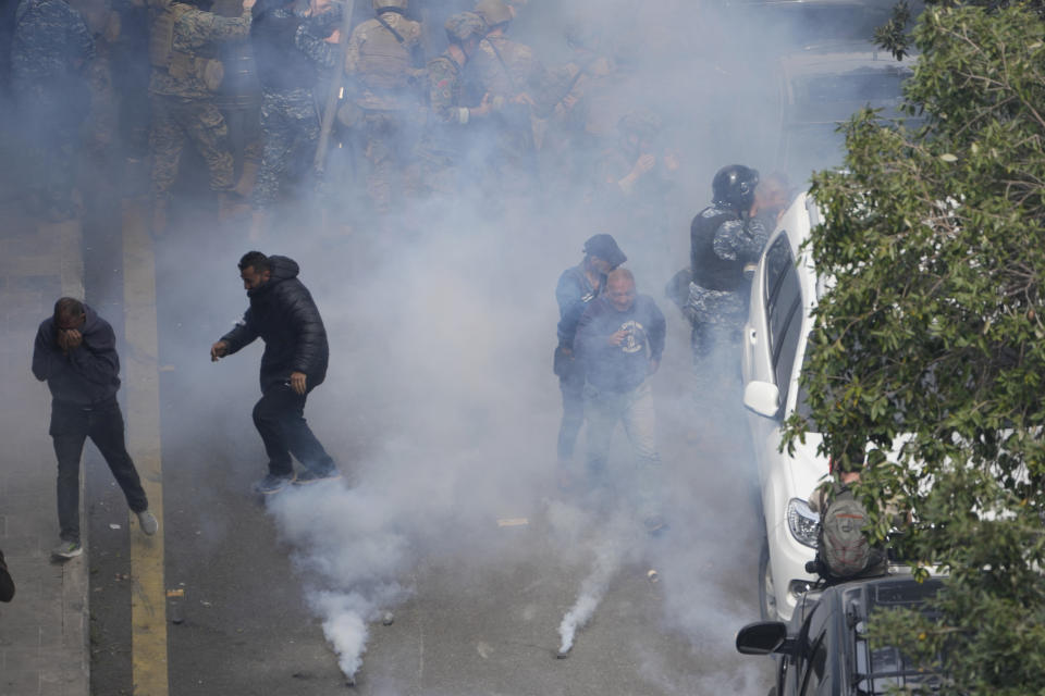
[{"label": "dark trousers of the man covering his face with his hands", "polygon": [[113,398],[91,407],[54,401],[51,437],[58,457],[58,524],[66,542],[79,542],[79,460],[89,437],[134,512],[149,509],[142,480],[123,440],[123,413]]}]

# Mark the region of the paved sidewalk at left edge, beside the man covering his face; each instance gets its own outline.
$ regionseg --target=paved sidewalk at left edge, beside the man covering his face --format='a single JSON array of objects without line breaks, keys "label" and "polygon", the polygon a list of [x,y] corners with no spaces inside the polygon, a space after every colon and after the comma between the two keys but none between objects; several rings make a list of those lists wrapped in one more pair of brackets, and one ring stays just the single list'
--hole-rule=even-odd
[{"label": "paved sidewalk at left edge, beside the man covering his face", "polygon": [[88,696],[87,525],[84,555],[53,563],[50,397],[29,371],[37,326],[54,300],[84,296],[81,228],[37,226],[15,203],[0,202],[0,549],[17,587],[0,604],[0,694]]}]

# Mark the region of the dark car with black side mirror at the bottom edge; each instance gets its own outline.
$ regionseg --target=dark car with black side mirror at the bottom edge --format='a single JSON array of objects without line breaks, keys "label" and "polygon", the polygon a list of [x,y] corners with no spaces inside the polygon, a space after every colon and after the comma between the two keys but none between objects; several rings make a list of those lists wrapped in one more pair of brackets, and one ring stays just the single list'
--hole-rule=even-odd
[{"label": "dark car with black side mirror at the bottom edge", "polygon": [[910,575],[886,576],[812,589],[790,624],[763,621],[737,634],[745,655],[779,656],[771,696],[872,696],[933,688],[936,678],[909,664],[895,647],[871,648],[868,618],[889,608],[923,607],[941,587]]}]

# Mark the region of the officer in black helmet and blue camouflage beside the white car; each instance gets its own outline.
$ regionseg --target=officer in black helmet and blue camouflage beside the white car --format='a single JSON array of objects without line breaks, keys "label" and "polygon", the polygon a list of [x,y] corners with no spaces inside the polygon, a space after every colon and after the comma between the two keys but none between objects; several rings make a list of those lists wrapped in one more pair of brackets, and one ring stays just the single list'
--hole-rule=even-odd
[{"label": "officer in black helmet and blue camouflage beside the white car", "polygon": [[[754,264],[769,239],[758,216],[758,184],[759,173],[751,167],[732,164],[718,170],[712,182],[712,203],[690,226],[692,281],[683,311],[693,327],[698,366],[716,347],[740,340]],[[725,371],[736,372],[736,365]]]}]

